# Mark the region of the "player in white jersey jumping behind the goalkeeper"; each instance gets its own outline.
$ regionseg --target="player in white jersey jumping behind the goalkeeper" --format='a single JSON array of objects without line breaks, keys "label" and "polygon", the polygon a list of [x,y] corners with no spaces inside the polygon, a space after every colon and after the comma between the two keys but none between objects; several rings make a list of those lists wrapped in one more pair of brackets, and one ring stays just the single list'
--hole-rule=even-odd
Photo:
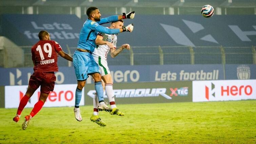
[{"label": "player in white jersey jumping behind the goalkeeper", "polygon": [[[117,22],[112,22],[110,25],[110,29],[113,28],[121,28],[123,26],[123,20],[119,20]],[[113,80],[110,74],[109,67],[107,66],[107,54],[109,51],[111,52],[111,57],[116,57],[124,48],[130,50],[129,44],[123,44],[120,48],[116,49],[117,43],[117,36],[116,35],[108,35],[99,33],[96,40],[96,45],[99,45],[95,48],[94,52],[92,53],[94,60],[98,64],[100,68],[100,75],[101,79],[103,80],[102,85],[103,89],[106,90],[107,98],[109,99],[109,103],[111,108],[113,109],[110,114],[111,115],[118,115],[124,116],[124,113],[121,112],[116,104],[115,104],[115,97],[113,92]],[[105,87],[104,87],[105,83]],[[104,110],[100,106],[98,106],[97,94],[94,96],[94,112],[93,115],[98,115],[98,110]]]}]

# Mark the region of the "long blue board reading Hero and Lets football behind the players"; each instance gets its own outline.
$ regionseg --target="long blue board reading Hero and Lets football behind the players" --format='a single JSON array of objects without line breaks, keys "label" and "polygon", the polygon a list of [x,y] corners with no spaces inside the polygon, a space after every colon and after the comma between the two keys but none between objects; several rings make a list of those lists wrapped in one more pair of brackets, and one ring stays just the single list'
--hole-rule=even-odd
[{"label": "long blue board reading Hero and Lets football behind the players", "polygon": [[[223,80],[223,65],[109,66],[114,83]],[[33,68],[0,68],[0,85],[27,85]],[[59,67],[56,84],[76,84],[74,67]],[[93,83],[92,77],[86,81]]]}]

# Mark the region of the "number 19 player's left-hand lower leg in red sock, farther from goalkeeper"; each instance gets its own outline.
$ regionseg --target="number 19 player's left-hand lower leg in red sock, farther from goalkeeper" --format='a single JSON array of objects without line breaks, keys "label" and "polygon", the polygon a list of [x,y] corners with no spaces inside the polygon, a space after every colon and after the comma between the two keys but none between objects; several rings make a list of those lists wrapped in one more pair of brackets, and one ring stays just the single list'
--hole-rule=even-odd
[{"label": "number 19 player's left-hand lower leg in red sock, farther from goalkeeper", "polygon": [[36,89],[33,89],[28,85],[26,94],[20,100],[20,104],[19,104],[16,116],[13,118],[13,121],[18,122],[20,120],[20,115],[21,115],[22,110],[24,109],[28,100],[32,97],[32,95],[34,94],[35,91],[36,91]]}]

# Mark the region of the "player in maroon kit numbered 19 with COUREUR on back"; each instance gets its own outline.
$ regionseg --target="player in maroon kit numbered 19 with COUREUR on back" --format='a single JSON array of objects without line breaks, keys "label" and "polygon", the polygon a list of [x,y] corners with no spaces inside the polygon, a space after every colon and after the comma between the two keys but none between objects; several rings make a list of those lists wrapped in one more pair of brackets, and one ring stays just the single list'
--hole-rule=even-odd
[{"label": "player in maroon kit numbered 19 with COUREUR on back", "polygon": [[27,128],[29,120],[40,111],[50,91],[53,91],[54,89],[56,81],[54,72],[58,71],[57,53],[64,59],[73,61],[72,57],[62,51],[61,46],[57,42],[51,40],[48,32],[42,30],[39,32],[38,37],[40,40],[31,49],[34,73],[29,79],[26,94],[20,100],[17,114],[13,118],[13,121],[19,121],[21,112],[26,106],[29,98],[34,94],[37,88],[41,86],[39,100],[31,113],[25,116],[25,121],[22,124],[23,130]]}]

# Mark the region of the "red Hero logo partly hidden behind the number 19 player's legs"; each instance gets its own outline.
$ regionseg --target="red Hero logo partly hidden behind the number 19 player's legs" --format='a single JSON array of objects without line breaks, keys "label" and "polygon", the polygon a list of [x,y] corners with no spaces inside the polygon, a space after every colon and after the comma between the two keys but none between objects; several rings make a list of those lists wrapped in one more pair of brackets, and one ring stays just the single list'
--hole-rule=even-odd
[{"label": "red Hero logo partly hidden behind the number 19 player's legs", "polygon": [[[22,97],[24,96],[23,92],[20,91],[20,100],[22,99]],[[40,97],[40,91],[37,92],[37,97],[38,97],[38,100],[39,100],[39,97]],[[55,91],[51,91],[48,98],[46,99],[46,102],[47,100],[50,101],[50,102],[55,102],[55,101],[61,101],[64,97],[64,100],[69,102],[69,101],[72,101],[73,98],[74,98],[74,94],[72,91],[70,90],[67,90],[67,91],[63,91],[61,90],[59,93],[55,92]],[[31,99],[29,99],[29,103],[31,103],[30,101]]]}]

